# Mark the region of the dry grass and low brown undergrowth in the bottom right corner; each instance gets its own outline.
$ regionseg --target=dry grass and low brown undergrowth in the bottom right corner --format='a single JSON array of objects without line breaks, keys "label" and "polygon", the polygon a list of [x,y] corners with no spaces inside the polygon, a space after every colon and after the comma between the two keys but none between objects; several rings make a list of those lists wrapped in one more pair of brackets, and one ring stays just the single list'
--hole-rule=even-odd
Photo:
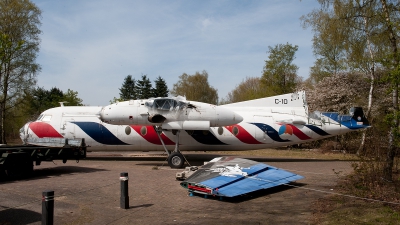
[{"label": "dry grass and low brown undergrowth in the bottom right corner", "polygon": [[330,196],[313,204],[313,224],[400,224],[400,173],[393,181],[382,179],[380,162],[360,160],[354,172],[338,181],[339,193],[357,196]]}]

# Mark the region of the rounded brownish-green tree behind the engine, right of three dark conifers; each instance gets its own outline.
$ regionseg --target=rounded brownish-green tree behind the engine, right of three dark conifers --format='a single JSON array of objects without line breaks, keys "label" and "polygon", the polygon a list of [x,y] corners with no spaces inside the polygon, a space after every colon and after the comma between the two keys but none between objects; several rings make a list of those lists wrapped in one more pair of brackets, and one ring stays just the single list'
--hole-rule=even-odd
[{"label": "rounded brownish-green tree behind the engine, right of three dark conifers", "polygon": [[188,100],[207,102],[211,104],[218,103],[217,89],[208,83],[208,73],[196,72],[194,75],[183,73],[179,76],[179,81],[174,84],[172,95],[186,96]]}]

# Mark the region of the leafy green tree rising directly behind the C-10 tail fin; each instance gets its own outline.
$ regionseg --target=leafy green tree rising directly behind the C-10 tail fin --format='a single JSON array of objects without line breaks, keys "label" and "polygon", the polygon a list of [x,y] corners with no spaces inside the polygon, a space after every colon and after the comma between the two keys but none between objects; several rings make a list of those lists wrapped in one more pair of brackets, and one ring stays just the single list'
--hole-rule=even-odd
[{"label": "leafy green tree rising directly behind the C-10 tail fin", "polygon": [[286,43],[268,48],[269,60],[265,61],[261,82],[270,95],[293,92],[300,81],[297,76],[298,67],[292,63],[298,46]]}]

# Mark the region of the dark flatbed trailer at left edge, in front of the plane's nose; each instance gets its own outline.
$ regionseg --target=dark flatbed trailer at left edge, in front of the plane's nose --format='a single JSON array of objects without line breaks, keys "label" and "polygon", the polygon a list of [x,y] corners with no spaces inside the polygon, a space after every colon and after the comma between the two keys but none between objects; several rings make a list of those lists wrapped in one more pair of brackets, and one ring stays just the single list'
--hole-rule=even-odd
[{"label": "dark flatbed trailer at left edge, in front of the plane's nose", "polygon": [[43,145],[0,146],[0,172],[10,178],[20,178],[33,171],[33,165],[43,161],[77,160],[86,158],[85,139],[47,139]]}]

